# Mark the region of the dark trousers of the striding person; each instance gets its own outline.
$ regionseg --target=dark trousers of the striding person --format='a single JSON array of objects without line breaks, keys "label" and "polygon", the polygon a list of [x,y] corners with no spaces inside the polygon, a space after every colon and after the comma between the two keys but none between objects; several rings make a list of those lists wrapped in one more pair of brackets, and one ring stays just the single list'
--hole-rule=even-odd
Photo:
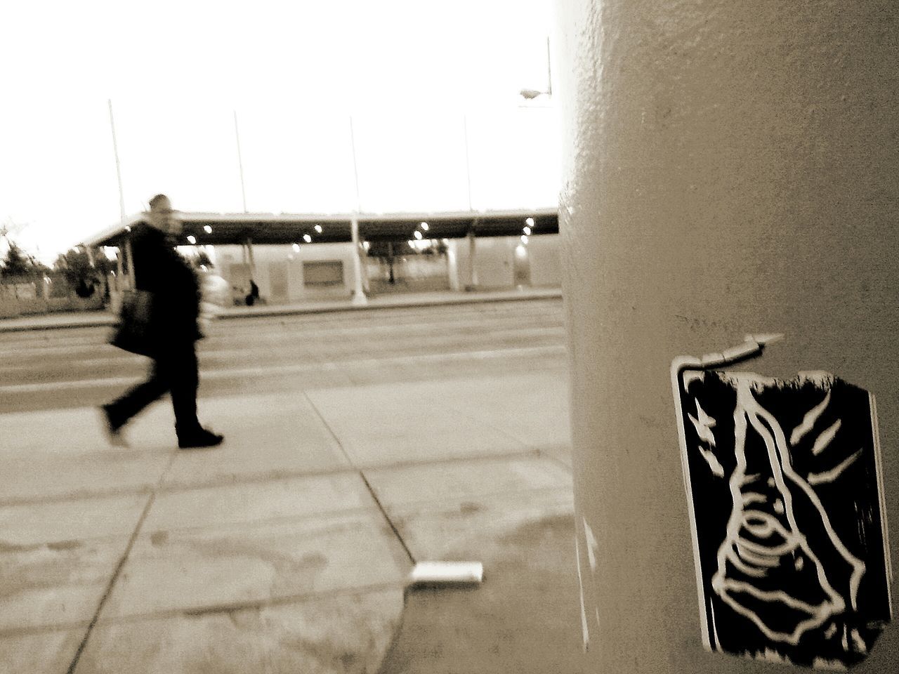
[{"label": "dark trousers of the striding person", "polygon": [[105,406],[113,427],[119,428],[166,392],[172,395],[174,428],[179,438],[200,430],[197,419],[197,352],[192,342],[160,353],[153,360],[150,377]]}]

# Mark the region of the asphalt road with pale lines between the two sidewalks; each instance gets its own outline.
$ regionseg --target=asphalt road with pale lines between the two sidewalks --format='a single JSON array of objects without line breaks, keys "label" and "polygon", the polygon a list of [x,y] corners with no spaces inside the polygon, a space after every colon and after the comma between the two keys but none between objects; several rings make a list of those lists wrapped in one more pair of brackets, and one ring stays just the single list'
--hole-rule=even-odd
[{"label": "asphalt road with pale lines between the two sidewalks", "polygon": [[[93,406],[146,375],[109,328],[0,333],[0,413]],[[561,299],[239,318],[200,341],[200,397],[567,366]]]}]

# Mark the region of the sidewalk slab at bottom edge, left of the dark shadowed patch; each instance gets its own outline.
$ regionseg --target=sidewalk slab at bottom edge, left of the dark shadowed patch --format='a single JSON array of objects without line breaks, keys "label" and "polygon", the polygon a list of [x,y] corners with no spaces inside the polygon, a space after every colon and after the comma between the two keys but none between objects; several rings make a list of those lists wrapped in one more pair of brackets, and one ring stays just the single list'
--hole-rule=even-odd
[{"label": "sidewalk slab at bottom edge, left of the dark shadowed patch", "polygon": [[402,603],[402,592],[391,588],[101,623],[75,674],[374,672],[398,626]]}]

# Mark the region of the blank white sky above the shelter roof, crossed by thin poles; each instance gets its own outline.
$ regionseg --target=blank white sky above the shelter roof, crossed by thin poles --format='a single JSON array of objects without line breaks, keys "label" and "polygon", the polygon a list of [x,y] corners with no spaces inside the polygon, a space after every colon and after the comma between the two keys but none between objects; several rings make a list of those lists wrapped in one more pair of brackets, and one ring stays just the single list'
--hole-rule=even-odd
[{"label": "blank white sky above the shelter roof, crossed by thin poles", "polygon": [[363,211],[555,206],[551,5],[3,3],[0,226],[52,262],[119,221],[109,100],[129,215],[243,210],[235,112],[250,211],[356,208],[351,118]]}]

